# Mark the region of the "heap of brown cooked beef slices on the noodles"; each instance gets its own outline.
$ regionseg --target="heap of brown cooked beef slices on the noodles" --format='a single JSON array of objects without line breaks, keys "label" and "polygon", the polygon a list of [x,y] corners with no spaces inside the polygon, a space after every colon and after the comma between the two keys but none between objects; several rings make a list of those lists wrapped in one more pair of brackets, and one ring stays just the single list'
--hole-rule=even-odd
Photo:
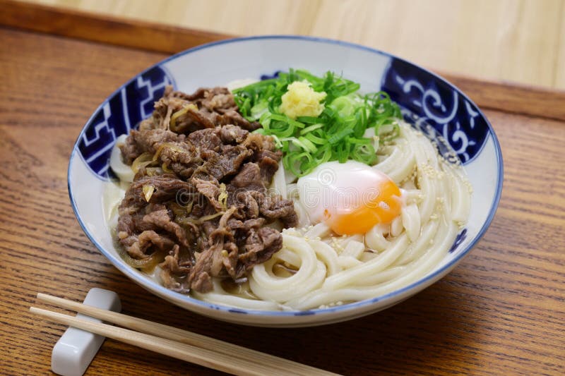
[{"label": "heap of brown cooked beef slices on the noodles", "polygon": [[293,202],[270,193],[281,152],[238,112],[223,87],[193,94],[167,87],[121,152],[131,164],[148,153],[119,206],[117,234],[129,255],[167,253],[163,284],[213,289],[214,278],[245,277],[283,246],[295,226]]}]

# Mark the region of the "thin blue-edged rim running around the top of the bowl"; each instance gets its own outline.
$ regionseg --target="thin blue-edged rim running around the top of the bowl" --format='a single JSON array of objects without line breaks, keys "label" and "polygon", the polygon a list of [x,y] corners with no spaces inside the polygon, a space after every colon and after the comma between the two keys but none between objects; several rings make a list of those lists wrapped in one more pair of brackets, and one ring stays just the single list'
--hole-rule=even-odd
[{"label": "thin blue-edged rim running around the top of the bowl", "polygon": [[[123,262],[123,260],[119,260],[119,257],[116,257],[116,256],[112,255],[111,253],[109,253],[107,250],[105,250],[105,248],[102,247],[102,245],[100,245],[100,243],[98,243],[95,240],[93,235],[90,234],[85,223],[83,222],[81,214],[79,214],[79,212],[78,212],[78,207],[76,205],[76,201],[75,201],[75,198],[73,196],[73,190],[71,188],[71,166],[73,164],[73,159],[76,157],[76,154],[78,154],[79,157],[81,157],[81,159],[82,159],[82,156],[77,151],[78,151],[78,143],[80,142],[81,138],[83,137],[83,134],[85,133],[86,127],[93,121],[97,112],[100,111],[100,109],[102,109],[102,107],[109,101],[110,98],[114,97],[114,95],[119,94],[119,92],[122,90],[122,88],[124,88],[126,85],[129,85],[129,83],[133,82],[133,80],[136,80],[136,78],[139,75],[142,75],[143,73],[145,73],[147,71],[150,71],[150,69],[153,69],[156,66],[160,66],[160,68],[165,69],[166,67],[164,67],[163,64],[167,63],[168,61],[172,61],[174,59],[177,59],[180,56],[192,54],[192,53],[199,51],[201,49],[208,49],[210,47],[219,46],[221,44],[248,42],[248,41],[252,41],[252,40],[306,40],[306,41],[309,41],[309,42],[317,42],[317,43],[324,43],[324,44],[337,44],[339,46],[343,46],[343,47],[347,47],[347,48],[362,49],[364,51],[369,51],[373,54],[380,54],[380,55],[383,55],[383,56],[388,56],[391,59],[398,59],[399,61],[403,61],[405,63],[410,64],[410,66],[414,66],[415,68],[418,68],[418,69],[420,69],[420,70],[422,70],[426,73],[429,73],[436,80],[442,81],[442,82],[446,83],[447,85],[449,85],[450,87],[453,87],[453,89],[455,89],[458,92],[458,95],[461,95],[465,100],[470,102],[470,104],[473,104],[475,106],[475,108],[477,109],[478,113],[480,114],[480,116],[482,116],[484,121],[487,123],[487,126],[489,128],[489,133],[487,133],[487,135],[490,135],[492,137],[492,141],[493,141],[493,144],[494,144],[494,150],[495,150],[495,154],[496,154],[496,166],[497,166],[498,174],[497,174],[497,177],[496,177],[496,191],[494,193],[494,199],[492,200],[492,203],[490,205],[489,214],[487,216],[487,219],[485,219],[485,221],[482,224],[481,228],[479,229],[477,235],[475,236],[475,238],[472,239],[472,241],[470,241],[470,243],[466,246],[466,248],[462,252],[460,252],[456,257],[453,257],[452,260],[447,262],[446,265],[443,265],[441,268],[436,269],[433,273],[427,274],[427,276],[425,276],[421,279],[418,279],[417,281],[413,282],[412,284],[409,284],[408,286],[404,286],[401,289],[392,291],[390,293],[386,293],[386,294],[381,295],[381,296],[376,296],[374,298],[369,298],[369,299],[366,299],[364,301],[357,301],[357,302],[354,302],[354,303],[347,303],[347,304],[344,304],[344,305],[335,305],[333,307],[328,307],[328,308],[316,308],[316,309],[302,310],[302,311],[297,311],[297,310],[271,311],[271,310],[244,309],[244,308],[234,308],[234,307],[231,307],[229,305],[220,305],[220,304],[215,304],[215,303],[208,303],[206,301],[201,301],[197,298],[193,298],[191,296],[184,295],[182,293],[177,293],[175,291],[169,290],[169,289],[165,288],[165,286],[162,286],[161,284],[158,284],[157,282],[155,282],[151,279],[147,279],[147,278],[143,277],[141,274],[136,273],[135,269],[129,267],[129,265],[126,265]],[[267,317],[296,317],[296,316],[304,316],[304,315],[324,315],[324,316],[328,316],[328,315],[334,315],[334,314],[337,314],[337,313],[347,313],[347,311],[353,312],[353,311],[355,311],[359,308],[367,308],[368,306],[374,305],[375,303],[379,303],[379,302],[384,303],[386,301],[391,301],[391,300],[393,300],[393,298],[396,298],[396,297],[401,298],[403,296],[403,294],[407,293],[408,291],[410,291],[412,289],[417,290],[417,291],[424,289],[426,286],[431,284],[434,280],[441,278],[451,268],[455,267],[455,265],[458,262],[460,262],[460,260],[463,260],[463,257],[465,257],[470,252],[470,250],[472,248],[474,248],[475,245],[477,245],[477,243],[480,241],[480,239],[484,236],[484,233],[487,231],[490,224],[492,223],[492,219],[494,219],[494,215],[495,215],[496,210],[499,206],[499,202],[500,202],[500,198],[501,198],[501,192],[502,192],[503,180],[504,180],[504,164],[503,164],[503,159],[502,159],[502,152],[501,152],[499,140],[496,137],[496,133],[494,132],[494,128],[492,128],[492,125],[489,122],[489,120],[487,119],[487,116],[484,115],[482,110],[475,104],[475,102],[472,102],[472,100],[467,95],[465,95],[465,93],[463,93],[456,85],[453,85],[453,83],[449,82],[445,78],[442,78],[440,75],[437,75],[436,73],[433,73],[432,71],[429,71],[426,68],[422,68],[422,66],[419,66],[415,63],[412,63],[410,61],[402,59],[402,58],[395,56],[393,54],[388,54],[387,52],[381,51],[379,49],[374,49],[374,48],[371,48],[371,47],[364,46],[362,44],[356,44],[356,43],[352,43],[352,42],[344,42],[344,41],[341,41],[341,40],[333,40],[333,39],[330,39],[330,38],[309,37],[309,36],[303,36],[303,35],[261,35],[261,36],[253,36],[253,37],[231,38],[231,39],[227,39],[227,40],[220,40],[220,41],[217,41],[217,42],[210,42],[210,43],[206,43],[206,44],[201,44],[201,45],[193,47],[191,49],[186,49],[184,51],[180,51],[177,54],[173,54],[172,56],[168,56],[167,58],[165,58],[161,61],[158,61],[157,63],[146,68],[145,70],[141,71],[140,73],[137,73],[130,80],[126,81],[126,83],[124,83],[123,85],[118,87],[117,90],[115,90],[114,92],[112,92],[112,94],[110,94],[108,97],[106,97],[104,99],[104,101],[97,107],[97,109],[95,109],[95,111],[90,116],[88,121],[85,122],[83,128],[81,129],[81,133],[78,135],[78,138],[76,139],[76,141],[73,145],[73,150],[71,152],[71,157],[69,158],[69,166],[68,166],[68,169],[67,169],[67,188],[69,190],[69,199],[71,201],[71,206],[73,207],[73,212],[75,214],[76,219],[78,220],[78,223],[81,225],[81,228],[83,229],[83,232],[88,237],[88,239],[95,245],[95,247],[98,250],[100,250],[100,253],[102,253],[102,255],[104,255],[112,263],[112,265],[114,265],[114,267],[119,269],[120,272],[124,273],[126,275],[126,277],[129,277],[129,279],[135,281],[137,284],[142,286],[144,289],[148,289],[151,292],[158,291],[157,296],[160,296],[160,295],[169,296],[174,301],[183,301],[184,303],[188,303],[189,305],[196,305],[196,307],[198,307],[200,309],[204,308],[206,310],[212,310],[212,311],[215,311],[215,312],[222,311],[223,313],[225,313],[227,315],[244,314],[244,315],[256,315],[256,316],[267,316]],[[420,287],[420,290],[418,289],[418,287]],[[162,298],[162,296],[160,296],[160,297]],[[201,312],[201,311],[199,310],[198,312]]]}]

